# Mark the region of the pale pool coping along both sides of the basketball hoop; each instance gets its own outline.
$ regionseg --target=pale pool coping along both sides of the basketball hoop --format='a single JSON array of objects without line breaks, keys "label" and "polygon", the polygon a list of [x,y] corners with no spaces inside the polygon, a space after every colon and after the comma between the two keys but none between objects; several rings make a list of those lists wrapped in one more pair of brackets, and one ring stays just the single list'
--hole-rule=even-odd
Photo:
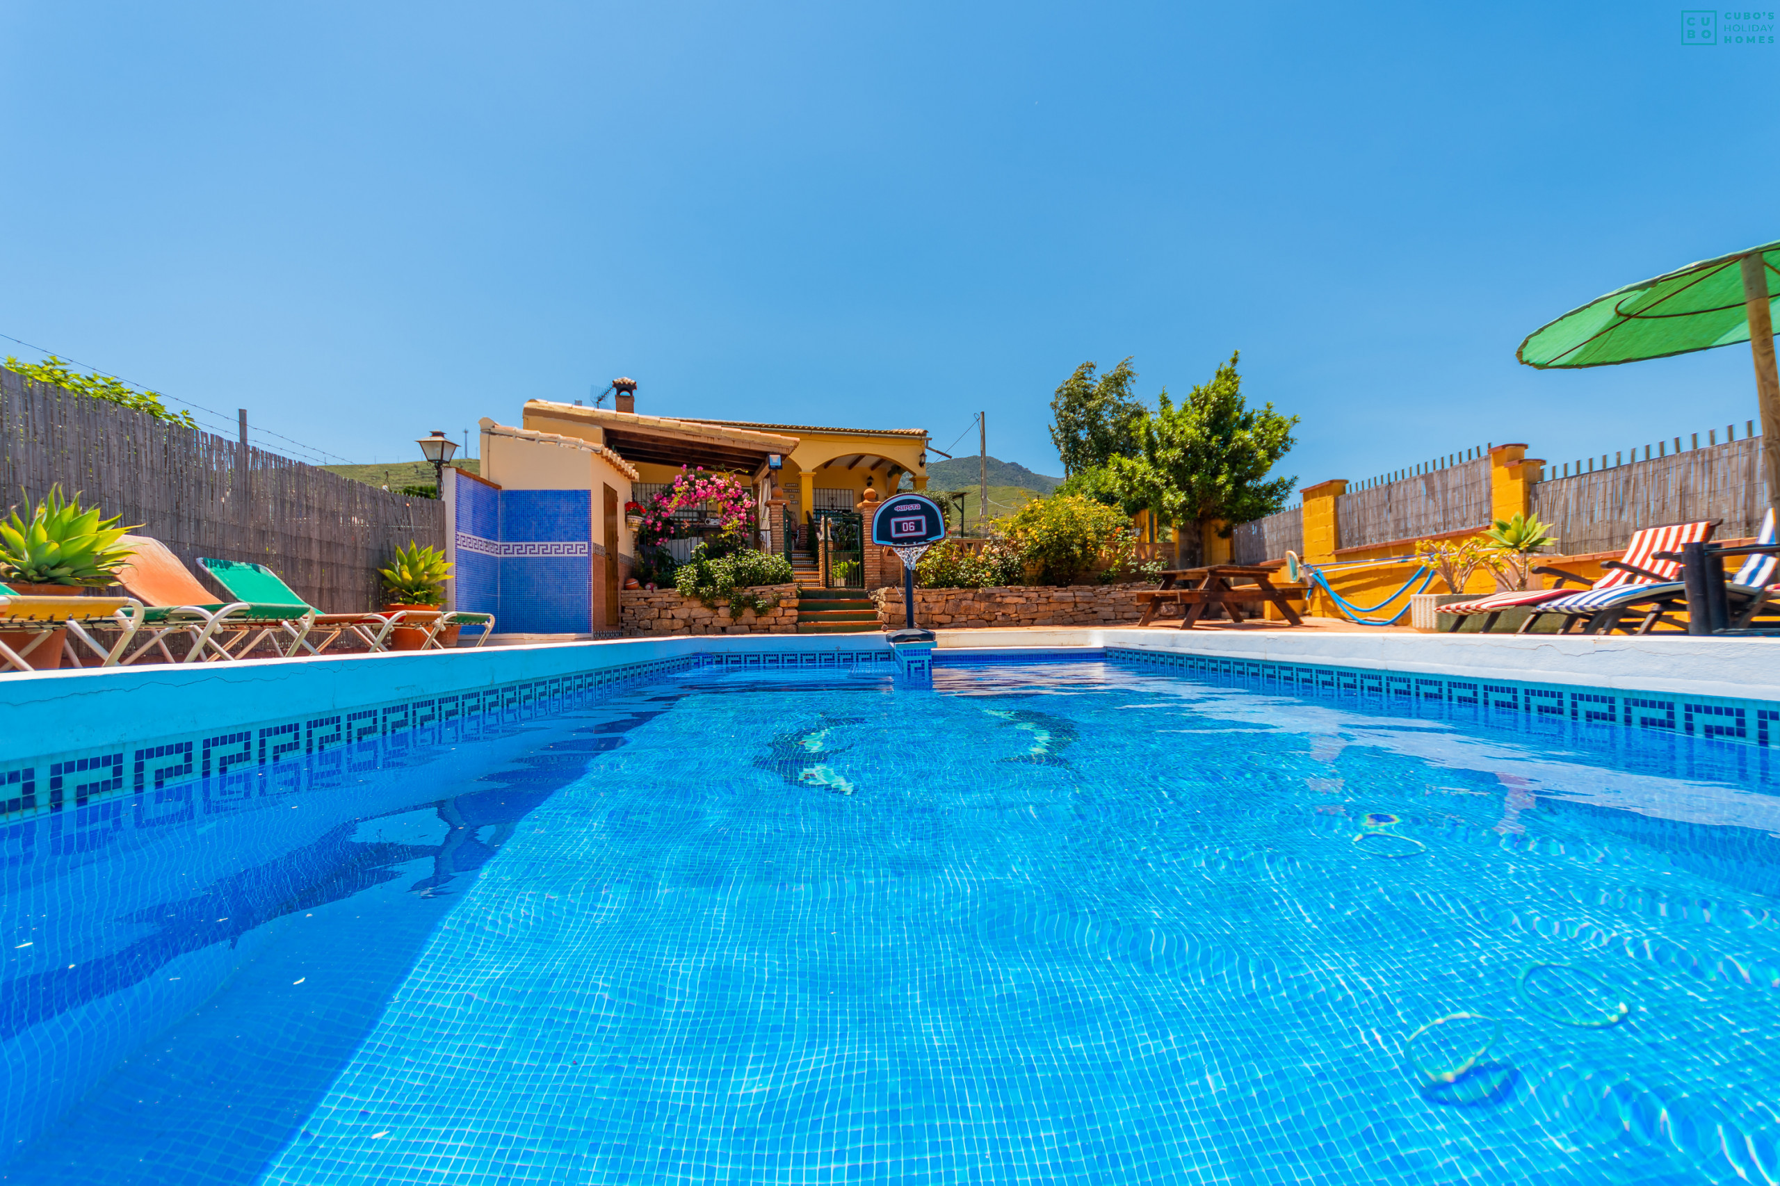
[{"label": "pale pool coping along both sides of the basketball hoop", "polygon": [[[1036,627],[940,630],[936,659],[943,666],[947,652],[1004,652],[1013,659],[1018,652],[1129,646],[1271,664],[1780,702],[1776,643],[1780,639],[1687,636]],[[824,655],[883,652],[888,646],[883,634],[723,634],[9,673],[0,675],[0,762],[187,734],[230,721],[335,712],[698,654]]]}]

